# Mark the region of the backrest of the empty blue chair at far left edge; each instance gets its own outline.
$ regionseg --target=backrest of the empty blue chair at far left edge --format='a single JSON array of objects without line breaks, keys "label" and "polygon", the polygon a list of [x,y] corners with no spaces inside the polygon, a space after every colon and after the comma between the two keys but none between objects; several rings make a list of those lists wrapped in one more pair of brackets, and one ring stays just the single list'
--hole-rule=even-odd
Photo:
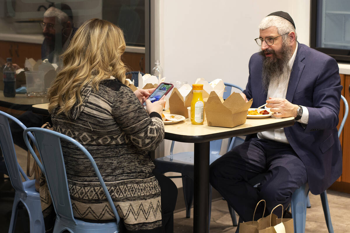
[{"label": "backrest of the empty blue chair at far left edge", "polygon": [[[17,161],[17,156],[15,152],[15,146],[13,144],[10,124],[8,119],[16,122],[18,125],[22,127],[22,129],[26,129],[27,127],[20,122],[17,118],[7,114],[6,112],[0,111],[0,146],[3,158],[5,160],[5,165],[10,177],[11,184],[16,191],[22,193],[22,198],[26,198],[27,194],[23,188],[22,184],[22,176],[26,181],[29,180],[21,166]],[[31,139],[34,139],[31,137]]]}]

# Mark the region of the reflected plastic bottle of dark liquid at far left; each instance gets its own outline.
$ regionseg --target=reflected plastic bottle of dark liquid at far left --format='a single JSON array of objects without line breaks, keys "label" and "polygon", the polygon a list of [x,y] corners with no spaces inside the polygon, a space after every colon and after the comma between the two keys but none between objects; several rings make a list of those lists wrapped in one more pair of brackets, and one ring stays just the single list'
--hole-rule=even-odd
[{"label": "reflected plastic bottle of dark liquid at far left", "polygon": [[12,65],[12,58],[6,58],[6,66],[3,68],[3,96],[15,97],[16,95],[16,69]]}]

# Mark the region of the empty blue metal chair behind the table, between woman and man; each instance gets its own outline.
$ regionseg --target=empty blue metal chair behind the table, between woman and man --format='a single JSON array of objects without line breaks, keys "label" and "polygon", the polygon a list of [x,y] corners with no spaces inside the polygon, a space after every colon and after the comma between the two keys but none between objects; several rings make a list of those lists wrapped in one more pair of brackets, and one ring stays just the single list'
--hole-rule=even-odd
[{"label": "empty blue metal chair behind the table, between woman and man", "polygon": [[[230,83],[224,83],[226,86],[226,92],[224,92],[223,98],[226,99],[231,94],[231,88],[236,87],[243,91],[242,88],[230,84]],[[243,139],[233,137],[229,138],[229,145],[228,149],[231,150],[236,145],[239,145],[243,143]],[[185,199],[185,206],[186,206],[186,218],[190,217],[191,214],[191,206],[193,202],[193,187],[194,187],[194,154],[193,152],[182,152],[173,154],[175,141],[172,141],[172,145],[170,147],[170,155],[164,156],[161,158],[157,158],[154,160],[154,163],[156,165],[156,170],[159,173],[166,173],[166,172],[177,172],[181,173],[181,176],[169,176],[170,178],[182,178],[182,185],[183,185],[183,195]],[[210,141],[210,154],[209,154],[209,164],[214,162],[217,158],[219,158],[221,155],[219,155],[219,152],[221,150],[221,144],[222,140],[215,140]],[[228,150],[228,151],[229,151]],[[210,185],[210,194],[209,194],[209,224],[210,224],[210,212],[211,212],[211,185]],[[229,207],[229,211],[232,218],[232,224],[233,226],[237,226],[237,220],[235,216],[235,211],[232,209],[232,207]]]}]

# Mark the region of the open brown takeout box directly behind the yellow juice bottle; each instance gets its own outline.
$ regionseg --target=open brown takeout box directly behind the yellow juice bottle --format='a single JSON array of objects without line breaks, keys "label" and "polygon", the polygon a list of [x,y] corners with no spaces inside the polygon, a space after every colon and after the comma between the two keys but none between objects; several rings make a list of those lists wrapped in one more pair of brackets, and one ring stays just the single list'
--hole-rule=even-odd
[{"label": "open brown takeout box directly behind the yellow juice bottle", "polygon": [[[169,97],[169,111],[170,114],[176,114],[188,118],[187,107],[191,106],[191,101],[193,97],[193,90],[191,90],[188,95],[184,98],[176,87],[173,88],[173,92]],[[203,100],[209,97],[209,94],[203,90],[202,93]],[[205,103],[204,103],[205,108]]]}]

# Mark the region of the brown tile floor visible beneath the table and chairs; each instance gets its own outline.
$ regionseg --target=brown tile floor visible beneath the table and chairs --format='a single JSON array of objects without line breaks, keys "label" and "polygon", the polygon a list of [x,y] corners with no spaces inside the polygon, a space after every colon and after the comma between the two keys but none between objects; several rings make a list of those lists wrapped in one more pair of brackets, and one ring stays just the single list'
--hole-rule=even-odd
[{"label": "brown tile floor visible beneath the table and chairs", "polygon": [[[27,164],[26,151],[16,147],[19,163],[25,170]],[[0,186],[0,233],[8,232],[11,217],[13,192],[10,191],[10,183],[3,183]],[[329,190],[328,203],[331,212],[331,219],[334,232],[350,232],[350,194]],[[182,192],[179,195],[183,195]],[[325,224],[321,200],[319,196],[310,194],[311,208],[307,209],[306,233],[328,232]],[[192,211],[193,212],[193,211]],[[174,233],[193,232],[193,217],[186,218],[185,210],[174,213]],[[19,210],[15,232],[29,232],[28,213],[24,209]],[[227,203],[218,199],[212,203],[211,211],[211,233],[235,233],[236,227],[232,226],[231,217]]]}]

